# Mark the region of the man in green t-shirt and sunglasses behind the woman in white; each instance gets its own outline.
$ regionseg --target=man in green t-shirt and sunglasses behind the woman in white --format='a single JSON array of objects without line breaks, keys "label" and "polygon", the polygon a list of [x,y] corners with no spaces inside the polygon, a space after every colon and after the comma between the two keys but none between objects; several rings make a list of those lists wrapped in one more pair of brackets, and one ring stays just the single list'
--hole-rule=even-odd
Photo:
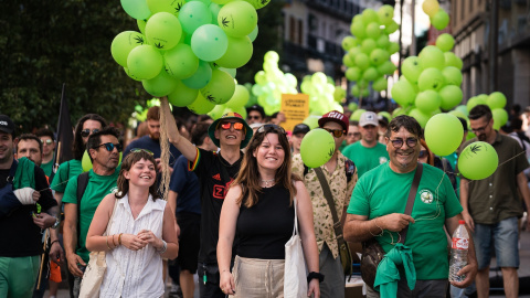
[{"label": "man in green t-shirt and sunglasses behind the woman in white", "polygon": [[[89,252],[85,247],[86,233],[99,202],[117,189],[119,170],[119,131],[106,127],[88,137],[86,148],[93,169],[88,172],[88,182],[77,206],[77,179],[71,179],[63,196],[64,203],[64,249],[68,269],[75,276],[73,295],[78,297],[83,273],[88,263]],[[77,231],[80,228],[80,231]]]}]

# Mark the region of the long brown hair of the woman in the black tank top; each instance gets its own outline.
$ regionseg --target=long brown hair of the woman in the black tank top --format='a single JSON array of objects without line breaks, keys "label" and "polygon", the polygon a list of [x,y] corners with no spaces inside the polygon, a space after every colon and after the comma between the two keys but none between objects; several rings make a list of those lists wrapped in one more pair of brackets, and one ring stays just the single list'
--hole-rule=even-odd
[{"label": "long brown hair of the woman in the black tank top", "polygon": [[235,181],[232,183],[232,185],[241,185],[242,192],[240,198],[237,198],[237,203],[242,203],[244,201],[246,207],[252,207],[253,205],[257,204],[258,194],[263,191],[262,187],[259,187],[259,171],[257,170],[257,159],[254,157],[253,153],[262,145],[267,134],[278,135],[279,143],[285,152],[284,161],[282,162],[282,166],[276,170],[274,183],[282,184],[289,191],[289,205],[293,204],[293,200],[296,195],[294,180],[300,180],[298,177],[292,173],[290,147],[289,141],[287,140],[287,136],[285,135],[285,130],[276,125],[262,126],[254,134],[248,146],[246,147],[246,152],[243,156],[243,162],[241,164],[240,173],[237,174]]}]

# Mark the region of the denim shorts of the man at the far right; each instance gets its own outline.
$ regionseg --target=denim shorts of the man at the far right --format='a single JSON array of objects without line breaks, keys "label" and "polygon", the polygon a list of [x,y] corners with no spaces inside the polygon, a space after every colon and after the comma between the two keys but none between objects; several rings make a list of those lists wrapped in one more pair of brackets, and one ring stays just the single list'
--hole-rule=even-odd
[{"label": "denim shorts of the man at the far right", "polygon": [[519,268],[519,225],[517,217],[509,217],[496,224],[475,224],[473,234],[478,269],[489,266],[492,246],[498,267]]}]

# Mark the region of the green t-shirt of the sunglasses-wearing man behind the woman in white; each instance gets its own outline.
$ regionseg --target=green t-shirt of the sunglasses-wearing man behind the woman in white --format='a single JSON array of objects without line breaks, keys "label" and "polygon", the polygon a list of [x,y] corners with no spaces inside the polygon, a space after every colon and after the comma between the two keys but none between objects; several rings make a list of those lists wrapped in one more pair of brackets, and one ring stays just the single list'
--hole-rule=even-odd
[{"label": "green t-shirt of the sunglasses-wearing man behind the woman in white", "polygon": [[[89,252],[86,249],[86,234],[91,226],[92,219],[96,212],[99,202],[105,195],[117,190],[116,181],[118,180],[119,169],[116,169],[112,175],[98,175],[93,170],[88,172],[88,184],[85,193],[81,199],[80,221],[80,244],[76,254],[80,255],[85,263],[88,262]],[[77,179],[71,179],[64,192],[63,203],[77,204]]]}]

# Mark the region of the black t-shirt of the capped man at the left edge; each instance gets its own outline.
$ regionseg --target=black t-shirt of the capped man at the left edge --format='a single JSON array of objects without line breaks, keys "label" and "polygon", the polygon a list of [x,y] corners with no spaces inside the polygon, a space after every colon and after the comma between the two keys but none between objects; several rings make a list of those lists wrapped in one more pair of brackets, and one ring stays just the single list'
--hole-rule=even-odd
[{"label": "black t-shirt of the capped man at the left edge", "polygon": [[[34,170],[35,190],[41,191],[39,204],[42,206],[42,212],[44,212],[57,205],[57,201],[53,199],[44,171],[36,166]],[[8,183],[8,175],[9,169],[0,170],[0,188],[6,187]],[[0,220],[0,235],[2,236],[2,241],[0,241],[0,256],[23,257],[42,254],[41,228],[33,223],[32,212],[36,213],[35,205],[23,205]]]}]

